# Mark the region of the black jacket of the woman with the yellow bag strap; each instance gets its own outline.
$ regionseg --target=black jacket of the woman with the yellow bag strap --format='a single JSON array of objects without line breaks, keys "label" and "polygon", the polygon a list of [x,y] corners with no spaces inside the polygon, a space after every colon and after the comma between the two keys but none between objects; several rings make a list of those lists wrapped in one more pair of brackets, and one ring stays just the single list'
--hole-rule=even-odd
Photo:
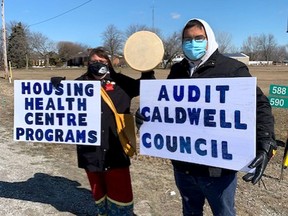
[{"label": "black jacket of the woman with the yellow bag strap", "polygon": [[[88,73],[77,80],[95,80]],[[122,74],[106,76],[102,87],[112,99],[118,113],[129,113],[131,99],[139,95],[140,81]],[[91,172],[128,167],[129,157],[124,153],[118,134],[114,113],[101,98],[101,146],[77,145],[78,166]]]}]

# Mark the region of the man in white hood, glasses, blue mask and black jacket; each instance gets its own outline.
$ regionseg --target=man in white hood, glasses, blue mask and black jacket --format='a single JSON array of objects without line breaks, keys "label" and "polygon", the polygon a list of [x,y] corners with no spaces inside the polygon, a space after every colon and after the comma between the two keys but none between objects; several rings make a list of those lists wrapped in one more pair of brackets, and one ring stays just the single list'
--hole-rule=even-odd
[{"label": "man in white hood, glasses, blue mask and black jacket", "polygon": [[[172,66],[168,79],[250,77],[247,66],[218,52],[211,27],[203,20],[192,19],[182,32],[185,58]],[[240,95],[241,93],[239,93]],[[235,97],[238,97],[235,95]],[[226,136],[223,134],[223,136]],[[249,165],[255,173],[243,177],[256,184],[262,177],[274,141],[274,118],[268,99],[257,87],[257,155]],[[236,215],[236,171],[172,160],[176,185],[182,196],[183,215],[203,215],[207,199],[213,215]]]}]

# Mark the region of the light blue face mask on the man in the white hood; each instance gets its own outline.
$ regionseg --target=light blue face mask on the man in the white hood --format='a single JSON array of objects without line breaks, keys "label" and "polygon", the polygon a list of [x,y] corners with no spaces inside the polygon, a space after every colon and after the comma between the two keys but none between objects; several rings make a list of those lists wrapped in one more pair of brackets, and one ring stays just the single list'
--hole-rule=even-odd
[{"label": "light blue face mask on the man in the white hood", "polygon": [[190,60],[198,60],[206,53],[207,40],[187,40],[183,41],[182,49]]}]

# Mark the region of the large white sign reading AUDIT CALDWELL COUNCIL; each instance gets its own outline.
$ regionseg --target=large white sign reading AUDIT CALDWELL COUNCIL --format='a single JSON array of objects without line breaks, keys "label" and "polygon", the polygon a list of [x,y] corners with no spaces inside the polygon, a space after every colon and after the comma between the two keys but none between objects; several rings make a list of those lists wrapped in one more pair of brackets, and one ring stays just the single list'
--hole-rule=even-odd
[{"label": "large white sign reading AUDIT CALDWELL COUNCIL", "polygon": [[248,171],[256,78],[141,80],[140,154]]}]

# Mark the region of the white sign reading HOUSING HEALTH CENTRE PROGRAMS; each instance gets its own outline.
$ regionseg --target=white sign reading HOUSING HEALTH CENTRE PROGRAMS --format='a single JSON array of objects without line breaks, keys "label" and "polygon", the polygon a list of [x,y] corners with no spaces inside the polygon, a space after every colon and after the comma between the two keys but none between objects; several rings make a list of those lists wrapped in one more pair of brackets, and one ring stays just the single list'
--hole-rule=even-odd
[{"label": "white sign reading HOUSING HEALTH CENTRE PROGRAMS", "polygon": [[14,140],[100,145],[100,82],[14,81]]}]

